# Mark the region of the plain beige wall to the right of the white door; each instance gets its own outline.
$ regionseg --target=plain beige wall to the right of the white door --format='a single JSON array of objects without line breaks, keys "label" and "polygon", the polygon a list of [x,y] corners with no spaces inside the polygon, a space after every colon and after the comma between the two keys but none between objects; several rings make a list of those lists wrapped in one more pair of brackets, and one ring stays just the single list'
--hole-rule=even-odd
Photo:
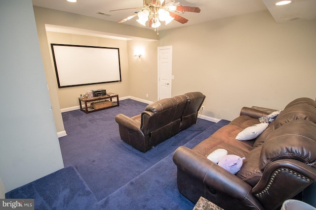
[{"label": "plain beige wall to the right of the white door", "polygon": [[233,120],[243,106],[316,98],[315,20],[276,24],[266,10],[160,31],[159,45],[172,45],[172,94],[203,92],[202,115]]}]

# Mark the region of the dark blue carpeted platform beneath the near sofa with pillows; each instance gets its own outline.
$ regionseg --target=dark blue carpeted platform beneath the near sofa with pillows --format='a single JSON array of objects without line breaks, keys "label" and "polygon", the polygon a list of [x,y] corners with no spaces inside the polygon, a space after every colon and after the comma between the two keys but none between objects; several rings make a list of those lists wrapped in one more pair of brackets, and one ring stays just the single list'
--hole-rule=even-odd
[{"label": "dark blue carpeted platform beneath the near sofa with pillows", "polygon": [[[229,121],[221,120],[184,146],[193,148]],[[143,174],[96,204],[106,210],[192,210],[195,206],[177,188],[177,167],[172,161],[173,152]]]}]

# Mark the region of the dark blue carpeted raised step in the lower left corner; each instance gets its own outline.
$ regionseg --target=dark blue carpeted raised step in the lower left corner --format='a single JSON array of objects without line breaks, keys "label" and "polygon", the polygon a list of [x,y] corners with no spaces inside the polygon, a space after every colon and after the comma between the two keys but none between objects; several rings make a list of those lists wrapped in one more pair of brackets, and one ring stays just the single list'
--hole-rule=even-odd
[{"label": "dark blue carpeted raised step in the lower left corner", "polygon": [[66,167],[5,194],[34,199],[36,210],[89,210],[97,202],[74,167]]}]

